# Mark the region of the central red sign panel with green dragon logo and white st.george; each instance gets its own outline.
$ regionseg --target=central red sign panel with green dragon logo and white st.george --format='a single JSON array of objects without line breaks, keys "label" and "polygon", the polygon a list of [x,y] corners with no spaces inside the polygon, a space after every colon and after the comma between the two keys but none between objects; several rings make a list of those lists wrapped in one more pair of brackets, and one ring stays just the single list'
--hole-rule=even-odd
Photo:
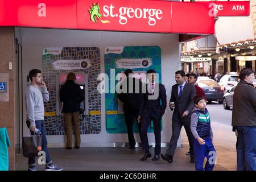
[{"label": "central red sign panel with green dragon logo and white st.george", "polygon": [[171,2],[77,0],[77,27],[90,30],[171,32]]}]

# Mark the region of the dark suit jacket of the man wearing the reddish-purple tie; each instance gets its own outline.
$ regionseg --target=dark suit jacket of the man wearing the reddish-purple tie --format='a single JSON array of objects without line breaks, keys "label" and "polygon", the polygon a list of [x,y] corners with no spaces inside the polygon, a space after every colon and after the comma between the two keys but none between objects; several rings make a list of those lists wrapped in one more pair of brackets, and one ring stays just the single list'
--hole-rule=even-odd
[{"label": "dark suit jacket of the man wearing the reddish-purple tie", "polygon": [[[145,86],[145,85],[143,85]],[[159,88],[159,92],[156,92],[156,88]],[[146,84],[146,93],[143,94],[143,108],[139,109],[139,115],[142,118],[161,118],[166,110],[166,88],[163,84],[155,83],[155,96],[148,93],[148,84]],[[158,96],[156,95],[158,94]],[[150,100],[149,96],[156,97],[154,100]],[[162,102],[162,104],[161,104]]]}]

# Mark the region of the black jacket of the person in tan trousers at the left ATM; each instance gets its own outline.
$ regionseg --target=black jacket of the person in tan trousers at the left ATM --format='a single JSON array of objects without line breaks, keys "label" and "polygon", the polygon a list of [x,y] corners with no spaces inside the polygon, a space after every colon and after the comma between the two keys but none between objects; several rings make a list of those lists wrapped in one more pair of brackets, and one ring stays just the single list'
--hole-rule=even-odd
[{"label": "black jacket of the person in tan trousers at the left ATM", "polygon": [[80,111],[80,102],[84,101],[84,93],[73,80],[67,80],[60,89],[60,101],[63,102],[63,113]]}]

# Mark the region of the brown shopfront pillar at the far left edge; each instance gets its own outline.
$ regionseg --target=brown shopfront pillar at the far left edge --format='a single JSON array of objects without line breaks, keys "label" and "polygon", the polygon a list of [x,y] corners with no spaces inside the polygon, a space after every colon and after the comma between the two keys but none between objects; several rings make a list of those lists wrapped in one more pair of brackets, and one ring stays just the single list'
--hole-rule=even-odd
[{"label": "brown shopfront pillar at the far left edge", "polygon": [[[14,27],[0,27],[0,73],[6,77],[4,81],[9,90],[9,99],[6,96],[0,98],[0,128],[6,127],[10,138],[9,148],[9,170],[15,170],[15,46]],[[7,91],[6,91],[7,92]]]}]

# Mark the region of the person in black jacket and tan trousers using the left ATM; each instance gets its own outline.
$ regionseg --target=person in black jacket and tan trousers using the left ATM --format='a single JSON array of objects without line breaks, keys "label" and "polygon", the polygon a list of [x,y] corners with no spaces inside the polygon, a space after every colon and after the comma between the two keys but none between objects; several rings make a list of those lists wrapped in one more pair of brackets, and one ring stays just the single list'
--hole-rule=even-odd
[{"label": "person in black jacket and tan trousers using the left ATM", "polygon": [[67,127],[67,149],[72,148],[72,119],[75,129],[75,148],[80,147],[79,111],[80,102],[84,101],[84,93],[78,84],[75,83],[75,73],[68,73],[67,81],[60,89],[60,101],[63,102],[65,125]]}]

